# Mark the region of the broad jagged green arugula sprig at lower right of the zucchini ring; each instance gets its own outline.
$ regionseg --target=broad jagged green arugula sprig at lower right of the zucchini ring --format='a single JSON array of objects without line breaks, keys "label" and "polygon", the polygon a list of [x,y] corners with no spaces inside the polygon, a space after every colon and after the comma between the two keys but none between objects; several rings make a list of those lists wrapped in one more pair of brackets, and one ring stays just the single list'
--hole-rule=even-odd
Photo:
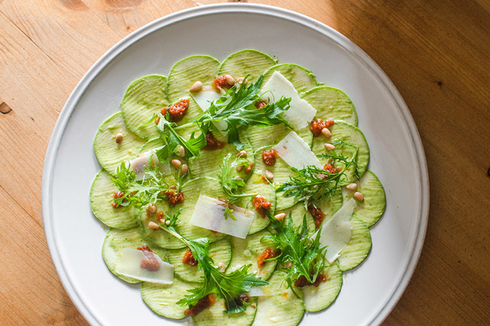
[{"label": "broad jagged green arugula sprig at lower right of the zucchini ring", "polygon": [[288,223],[277,221],[271,212],[267,212],[271,220],[271,234],[264,236],[277,245],[281,254],[268,260],[277,260],[282,263],[292,263],[286,269],[286,283],[294,292],[293,283],[304,276],[308,283],[315,283],[318,275],[325,267],[324,256],[326,247],[320,247],[320,233],[315,238],[308,236],[306,215],[303,216],[302,225],[295,228],[293,216],[288,215]]}]

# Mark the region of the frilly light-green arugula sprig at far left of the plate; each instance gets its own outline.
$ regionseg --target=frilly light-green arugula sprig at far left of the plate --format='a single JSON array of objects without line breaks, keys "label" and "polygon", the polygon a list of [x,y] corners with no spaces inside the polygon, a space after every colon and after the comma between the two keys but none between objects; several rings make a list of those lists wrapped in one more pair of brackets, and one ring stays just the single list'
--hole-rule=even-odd
[{"label": "frilly light-green arugula sprig at far left of the plate", "polygon": [[153,156],[148,161],[148,166],[145,166],[144,179],[137,180],[136,173],[130,170],[130,166],[126,166],[124,162],[117,167],[115,176],[109,178],[120,192],[124,192],[120,198],[114,198],[114,203],[124,208],[130,205],[139,208],[150,203],[157,203],[166,198],[168,191],[178,194],[182,180],[180,173],[175,174],[175,188],[171,188],[172,185],[164,180],[164,174],[157,163],[153,163]]}]

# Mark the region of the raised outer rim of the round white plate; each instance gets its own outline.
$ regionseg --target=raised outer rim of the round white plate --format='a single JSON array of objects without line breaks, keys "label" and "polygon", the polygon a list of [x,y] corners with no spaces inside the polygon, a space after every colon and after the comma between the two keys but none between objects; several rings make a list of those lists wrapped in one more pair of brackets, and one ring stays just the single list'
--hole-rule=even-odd
[{"label": "raised outer rim of the round white plate", "polygon": [[66,274],[66,269],[63,266],[63,261],[61,261],[61,256],[57,249],[55,234],[52,228],[52,194],[50,191],[50,185],[53,179],[53,167],[57,152],[59,149],[59,144],[64,131],[66,130],[66,125],[70,120],[72,112],[75,110],[81,96],[84,95],[90,83],[97,77],[97,75],[106,68],[110,62],[115,59],[121,52],[126,50],[130,45],[146,37],[146,35],[151,34],[155,30],[164,28],[173,23],[183,21],[185,19],[191,19],[193,17],[205,16],[208,14],[220,14],[220,13],[255,13],[255,14],[266,14],[279,19],[286,19],[294,23],[299,23],[302,26],[311,28],[317,32],[320,32],[325,37],[332,39],[338,45],[345,48],[347,52],[353,55],[357,61],[362,63],[367,69],[369,69],[373,76],[380,81],[380,83],[386,88],[393,101],[398,106],[398,110],[404,118],[406,127],[409,130],[411,136],[411,145],[413,145],[415,153],[417,154],[418,160],[418,172],[419,172],[419,198],[420,207],[416,221],[416,234],[411,239],[411,255],[409,260],[406,262],[404,267],[404,274],[398,280],[389,298],[384,303],[383,307],[375,313],[373,317],[369,320],[366,325],[380,325],[390,312],[393,310],[398,300],[402,297],[406,287],[409,285],[409,281],[415,272],[415,267],[420,258],[422,252],[422,247],[424,245],[424,238],[427,232],[427,223],[429,220],[429,172],[427,168],[427,160],[424,154],[424,147],[422,145],[422,140],[420,139],[420,134],[413,120],[413,116],[409,111],[404,99],[402,98],[400,92],[398,92],[395,85],[386,75],[386,73],[380,68],[380,66],[369,57],[364,50],[359,48],[353,41],[345,37],[340,32],[337,32],[333,28],[327,26],[326,24],[317,21],[311,17],[298,12],[293,12],[291,10],[286,10],[284,8],[278,8],[274,6],[262,5],[257,3],[217,3],[206,6],[199,6],[195,8],[188,8],[186,10],[180,10],[172,14],[168,14],[164,17],[156,19],[145,26],[135,30],[131,34],[128,34],[124,39],[118,41],[112,46],[107,52],[105,52],[84,74],[75,86],[68,97],[63,109],[59,114],[55,128],[52,130],[50,141],[48,144],[48,149],[46,150],[46,156],[43,165],[43,176],[41,181],[41,212],[43,215],[43,226],[46,235],[46,241],[48,243],[48,249],[50,251],[50,256],[52,262],[55,265],[55,269],[66,290],[70,300],[77,307],[82,316],[90,323],[90,325],[100,325],[103,324],[90,312],[90,309],[86,307],[85,303],[79,297],[79,294],[72,285],[72,281],[68,278]]}]

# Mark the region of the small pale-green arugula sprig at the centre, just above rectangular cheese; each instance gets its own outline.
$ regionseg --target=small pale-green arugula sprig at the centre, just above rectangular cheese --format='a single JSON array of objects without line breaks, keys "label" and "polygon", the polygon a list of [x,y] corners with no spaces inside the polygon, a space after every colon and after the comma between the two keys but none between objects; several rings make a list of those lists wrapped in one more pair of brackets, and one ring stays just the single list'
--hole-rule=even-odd
[{"label": "small pale-green arugula sprig at the centre, just above rectangular cheese", "polygon": [[257,196],[257,193],[237,193],[239,192],[240,188],[245,187],[246,183],[243,179],[237,179],[234,176],[231,176],[230,172],[237,166],[246,167],[250,164],[250,162],[243,157],[237,157],[233,162],[230,163],[230,159],[231,153],[226,156],[222,156],[222,164],[220,165],[221,170],[219,171],[218,179],[219,183],[222,186],[223,193],[228,198],[228,203],[224,209],[224,218],[226,219],[229,216],[233,220],[236,220],[237,218],[235,218],[235,216],[233,215],[233,208],[231,207],[231,205],[242,198],[249,197],[252,199],[253,197]]}]

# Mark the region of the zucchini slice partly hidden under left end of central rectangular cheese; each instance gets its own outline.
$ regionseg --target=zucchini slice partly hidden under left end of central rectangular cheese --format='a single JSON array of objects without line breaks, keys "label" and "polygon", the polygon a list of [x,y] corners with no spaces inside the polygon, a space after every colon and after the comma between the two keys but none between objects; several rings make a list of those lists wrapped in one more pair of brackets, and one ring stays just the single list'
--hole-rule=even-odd
[{"label": "zucchini slice partly hidden under left end of central rectangular cheese", "polygon": [[[209,238],[210,242],[221,240],[226,234],[212,232],[202,227],[197,227],[190,224],[190,218],[193,216],[194,209],[199,210],[199,207],[195,207],[199,195],[203,194],[211,198],[225,198],[221,185],[216,179],[208,176],[202,176],[197,179],[192,179],[182,186],[182,192],[184,193],[184,201],[173,207],[173,211],[182,209],[177,219],[175,229],[179,234],[194,240],[196,238]],[[224,217],[223,217],[224,218]]]}]

